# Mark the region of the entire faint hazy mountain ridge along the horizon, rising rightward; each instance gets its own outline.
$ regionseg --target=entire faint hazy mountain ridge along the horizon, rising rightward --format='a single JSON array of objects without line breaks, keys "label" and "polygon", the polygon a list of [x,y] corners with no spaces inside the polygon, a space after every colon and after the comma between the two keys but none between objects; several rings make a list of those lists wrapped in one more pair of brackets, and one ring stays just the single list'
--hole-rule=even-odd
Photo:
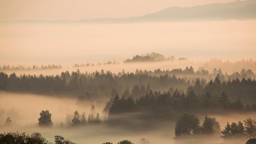
[{"label": "entire faint hazy mountain ridge along the horizon, rising rightward", "polygon": [[[53,23],[135,23],[135,22],[168,22],[196,20],[250,20],[256,19],[256,0],[214,3],[193,7],[166,8],[156,13],[130,18],[105,18],[69,20],[22,20],[19,22],[53,22]],[[5,21],[12,22],[12,21]]]}]

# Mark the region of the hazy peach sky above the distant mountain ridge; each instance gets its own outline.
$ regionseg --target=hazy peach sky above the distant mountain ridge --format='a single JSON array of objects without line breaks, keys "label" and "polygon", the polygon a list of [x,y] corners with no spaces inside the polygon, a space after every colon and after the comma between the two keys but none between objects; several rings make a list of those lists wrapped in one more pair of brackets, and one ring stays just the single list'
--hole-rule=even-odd
[{"label": "hazy peach sky above the distant mountain ridge", "polygon": [[171,6],[190,7],[234,0],[0,0],[0,21],[80,20],[143,16]]}]

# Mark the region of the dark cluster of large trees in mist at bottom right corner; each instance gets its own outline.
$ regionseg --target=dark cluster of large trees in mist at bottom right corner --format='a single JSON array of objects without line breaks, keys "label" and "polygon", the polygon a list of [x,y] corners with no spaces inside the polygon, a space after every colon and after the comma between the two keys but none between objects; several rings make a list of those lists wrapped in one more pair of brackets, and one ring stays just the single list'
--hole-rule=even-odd
[{"label": "dark cluster of large trees in mist at bottom right corner", "polygon": [[[205,117],[202,126],[200,126],[199,119],[194,114],[183,114],[175,125],[175,139],[184,138],[198,134],[223,134],[224,139],[230,138],[252,138],[256,136],[256,120],[248,118],[242,122],[227,123],[224,130],[220,130],[220,124],[215,118]],[[249,139],[246,144],[254,139]],[[254,141],[256,142],[256,141]]]}]

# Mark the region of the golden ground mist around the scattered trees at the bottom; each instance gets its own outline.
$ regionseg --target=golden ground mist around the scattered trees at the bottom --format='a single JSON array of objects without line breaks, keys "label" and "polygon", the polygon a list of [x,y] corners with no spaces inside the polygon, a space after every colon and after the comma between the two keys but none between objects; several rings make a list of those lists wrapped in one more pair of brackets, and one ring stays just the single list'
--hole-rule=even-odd
[{"label": "golden ground mist around the scattered trees at the bottom", "polygon": [[[114,144],[121,140],[131,140],[134,144],[140,144],[141,138],[146,138],[150,144],[175,144],[174,126],[175,122],[155,122],[154,127],[141,128],[136,130],[124,129],[123,127],[109,126],[107,124],[90,124],[82,127],[67,127],[66,114],[73,114],[78,110],[79,114],[86,113],[86,118],[90,113],[90,108],[94,104],[96,111],[102,116],[104,103],[88,102],[82,106],[76,104],[76,99],[58,98],[50,96],[40,96],[32,94],[17,94],[0,92],[0,133],[3,132],[40,132],[49,140],[54,142],[54,136],[60,135],[72,142],[78,144],[101,144],[103,142],[113,142]],[[42,110],[49,110],[52,114],[52,128],[39,128],[38,118]],[[224,129],[226,122],[238,122],[246,118],[256,119],[256,113],[231,113],[231,114],[196,114],[202,124],[205,115],[215,117],[220,122],[221,129]],[[13,124],[6,126],[4,124],[7,117],[10,117]],[[131,118],[133,120],[133,118]],[[60,122],[63,122],[64,128],[60,128]],[[134,119],[134,122],[136,120]],[[150,127],[150,126],[149,126]],[[201,142],[206,144],[227,144],[223,143],[220,136],[209,139],[199,136]],[[187,141],[188,142],[188,141]],[[185,143],[187,143],[185,142]],[[237,142],[237,141],[236,141]],[[245,143],[246,140],[241,140]],[[192,141],[190,141],[192,143]]]}]

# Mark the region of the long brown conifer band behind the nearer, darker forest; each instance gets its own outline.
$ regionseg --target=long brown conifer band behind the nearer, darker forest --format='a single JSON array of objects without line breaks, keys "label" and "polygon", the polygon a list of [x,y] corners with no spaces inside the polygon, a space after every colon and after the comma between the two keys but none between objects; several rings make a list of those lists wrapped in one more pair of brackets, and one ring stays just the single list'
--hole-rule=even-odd
[{"label": "long brown conifer band behind the nearer, darker forest", "polygon": [[[166,70],[168,71],[168,70]],[[164,71],[164,72],[166,72]],[[175,69],[172,70],[172,72]],[[196,74],[192,67],[181,70],[182,72],[188,74]],[[203,70],[202,70],[203,71]],[[214,70],[215,71],[215,70]],[[176,77],[176,75],[169,74],[158,74],[158,72],[163,72],[160,69],[155,70],[154,74],[148,74],[150,71],[136,70],[133,72],[119,72],[118,74],[112,74],[110,71],[100,72],[96,71],[93,73],[81,73],[79,70],[72,72],[71,74],[66,71],[62,72],[60,75],[56,76],[39,76],[36,75],[20,75],[17,76],[15,73],[8,74],[0,72],[0,90],[10,91],[10,92],[32,92],[36,94],[69,94],[69,95],[86,95],[87,92],[92,98],[104,98],[112,95],[113,89],[119,95],[124,92],[132,92],[134,89],[140,89],[143,91],[143,87],[148,85],[151,86],[153,91],[168,91],[170,88],[182,91],[186,90],[188,87],[195,87],[195,92],[197,95],[202,95],[202,93],[209,92],[214,96],[215,94],[220,94],[221,91],[225,91],[231,96],[231,98],[244,97],[247,101],[251,101],[252,93],[255,89],[255,80],[250,76],[246,76],[249,72],[254,74],[251,70],[242,70],[240,76],[237,78],[228,78],[222,74],[221,70],[216,70],[209,77],[218,77],[218,80],[210,80],[207,82],[204,77],[189,77],[187,78]],[[163,72],[163,73],[164,73]],[[170,71],[168,71],[170,72]],[[245,72],[245,73],[244,73]],[[248,74],[249,74],[248,73]],[[218,89],[217,92],[216,88]],[[219,89],[220,88],[220,89]],[[234,90],[232,90],[234,89]],[[135,95],[138,96],[135,96]],[[139,98],[142,94],[133,93],[134,98]],[[115,96],[115,95],[114,95]],[[114,97],[112,95],[112,97]]]}]

